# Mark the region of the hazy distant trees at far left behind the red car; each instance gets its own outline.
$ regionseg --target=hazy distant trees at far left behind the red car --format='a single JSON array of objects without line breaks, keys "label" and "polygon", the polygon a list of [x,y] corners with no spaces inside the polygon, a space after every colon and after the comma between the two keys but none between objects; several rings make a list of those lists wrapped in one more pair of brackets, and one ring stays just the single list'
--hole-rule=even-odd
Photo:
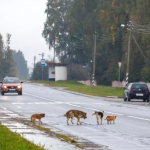
[{"label": "hazy distant trees at far left behind the red car", "polygon": [[[10,43],[10,38],[7,39],[7,42]],[[0,34],[0,80],[6,76],[27,80],[28,68],[23,53],[5,45],[3,36]]]}]

